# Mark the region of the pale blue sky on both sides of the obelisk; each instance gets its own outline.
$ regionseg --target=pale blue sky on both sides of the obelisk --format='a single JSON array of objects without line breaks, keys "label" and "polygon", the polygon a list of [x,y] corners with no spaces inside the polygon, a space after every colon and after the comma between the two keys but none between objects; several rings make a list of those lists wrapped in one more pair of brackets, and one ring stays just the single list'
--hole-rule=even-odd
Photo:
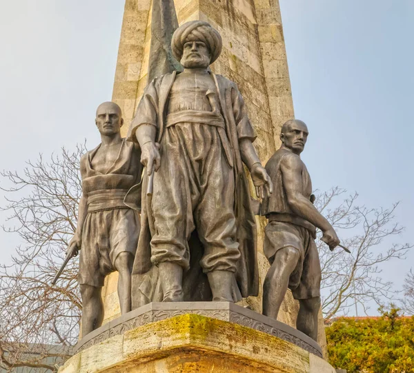
[{"label": "pale blue sky on both sides of the obelisk", "polygon": [[[311,135],[303,158],[315,188],[339,185],[388,207],[414,242],[414,1],[280,0],[295,114]],[[112,94],[122,0],[0,0],[0,168],[21,170],[88,139]],[[0,221],[4,221],[1,214]],[[0,261],[17,237],[0,232]],[[400,288],[413,266],[384,277]]]}]

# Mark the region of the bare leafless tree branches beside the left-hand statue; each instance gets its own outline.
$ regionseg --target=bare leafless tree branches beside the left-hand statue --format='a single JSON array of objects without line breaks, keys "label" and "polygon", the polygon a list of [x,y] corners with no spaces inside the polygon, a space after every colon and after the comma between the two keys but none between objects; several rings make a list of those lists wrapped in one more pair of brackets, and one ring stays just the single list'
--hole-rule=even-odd
[{"label": "bare leafless tree branches beside the left-hand statue", "polygon": [[[57,285],[50,282],[65,257],[77,225],[81,197],[79,159],[85,145],[28,162],[23,172],[1,172],[8,213],[3,230],[17,234],[21,247],[11,265],[0,265],[0,367],[39,367],[57,372],[50,361],[67,359],[77,342],[81,299],[78,263],[70,261]],[[66,352],[50,350],[61,345]],[[45,346],[48,346],[46,348]]]}]

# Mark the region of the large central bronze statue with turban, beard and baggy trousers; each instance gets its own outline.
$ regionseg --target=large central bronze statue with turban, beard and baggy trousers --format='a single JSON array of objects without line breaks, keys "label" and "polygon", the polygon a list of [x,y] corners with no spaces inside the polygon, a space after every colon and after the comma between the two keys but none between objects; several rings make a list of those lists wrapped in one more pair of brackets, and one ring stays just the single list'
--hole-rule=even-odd
[{"label": "large central bronze statue with turban, beard and baggy trousers", "polygon": [[[204,21],[177,28],[172,53],[184,72],[148,84],[129,128],[148,189],[133,270],[132,297],[144,297],[141,303],[257,295],[255,218],[242,162],[259,196],[272,186],[237,86],[208,68],[221,44]],[[157,280],[139,276],[152,266]]]}]

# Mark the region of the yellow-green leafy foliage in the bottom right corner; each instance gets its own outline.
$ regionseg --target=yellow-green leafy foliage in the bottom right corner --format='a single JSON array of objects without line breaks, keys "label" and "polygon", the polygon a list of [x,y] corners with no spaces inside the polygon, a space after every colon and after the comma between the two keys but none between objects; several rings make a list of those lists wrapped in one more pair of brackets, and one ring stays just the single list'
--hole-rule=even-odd
[{"label": "yellow-green leafy foliage in the bottom right corner", "polygon": [[348,373],[414,372],[414,316],[380,309],[377,318],[337,319],[326,327],[329,363]]}]

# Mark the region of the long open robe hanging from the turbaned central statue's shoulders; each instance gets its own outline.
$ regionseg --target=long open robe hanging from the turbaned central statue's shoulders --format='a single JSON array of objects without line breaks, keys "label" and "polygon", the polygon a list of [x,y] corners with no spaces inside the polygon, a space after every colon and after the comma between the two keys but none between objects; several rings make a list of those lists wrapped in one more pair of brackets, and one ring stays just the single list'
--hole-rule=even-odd
[{"label": "long open robe hanging from the turbaned central statue's shoulders", "polygon": [[[176,72],[165,74],[148,84],[141,99],[135,119],[128,130],[128,138],[137,141],[135,131],[143,123],[156,124],[156,141],[161,139],[166,130],[166,106],[168,96],[175,81]],[[257,296],[259,276],[257,269],[257,231],[255,216],[250,202],[250,192],[242,158],[239,151],[239,139],[255,135],[250,125],[242,95],[237,85],[228,79],[211,73],[215,81],[217,97],[221,106],[221,114],[226,125],[226,136],[230,143],[230,157],[232,157],[235,172],[235,203],[236,218],[235,241],[239,243],[240,259],[237,263],[233,299],[239,301],[250,295]],[[248,131],[248,134],[240,132]],[[161,162],[167,154],[161,154]],[[150,241],[155,232],[154,219],[151,210],[151,196],[147,196],[148,176],[144,172],[142,181],[141,199],[141,233],[137,254],[132,270],[132,308],[137,308],[151,301],[162,301],[163,294],[159,282],[158,269],[151,263]],[[190,241],[190,269],[184,273],[183,288],[185,301],[211,301],[211,291],[206,274],[203,273],[199,261],[203,255],[203,246],[199,241],[197,229],[191,235]]]}]

